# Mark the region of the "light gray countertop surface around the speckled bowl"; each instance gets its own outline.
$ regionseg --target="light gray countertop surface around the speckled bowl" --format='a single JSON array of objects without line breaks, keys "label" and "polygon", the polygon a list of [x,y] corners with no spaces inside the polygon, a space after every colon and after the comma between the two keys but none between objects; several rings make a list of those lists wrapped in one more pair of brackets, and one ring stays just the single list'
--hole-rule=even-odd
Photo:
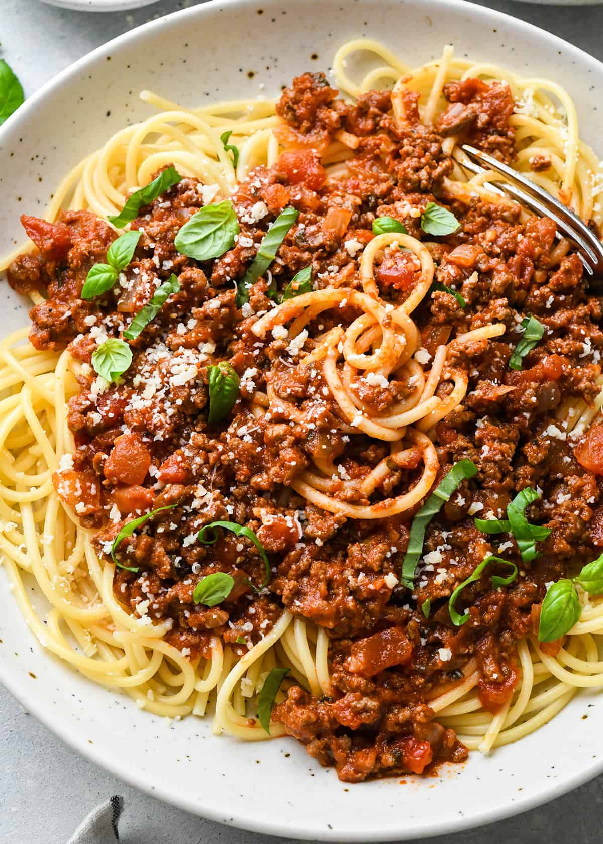
[{"label": "light gray countertop surface around the speckled bowl", "polygon": [[[301,2],[301,0],[296,0]],[[0,57],[21,79],[25,94],[85,53],[160,14],[194,0],[159,0],[130,12],[92,14],[38,0],[0,0]],[[600,6],[541,6],[488,0],[482,5],[514,14],[603,58]],[[0,844],[64,844],[84,814],[111,794],[125,798],[120,825],[126,844],[268,844],[258,836],[201,820],[124,785],[73,753],[0,687]],[[65,788],[62,788],[62,783]],[[601,841],[603,776],[541,809],[433,841],[448,844],[595,844]],[[402,821],[403,822],[403,821]]]}]

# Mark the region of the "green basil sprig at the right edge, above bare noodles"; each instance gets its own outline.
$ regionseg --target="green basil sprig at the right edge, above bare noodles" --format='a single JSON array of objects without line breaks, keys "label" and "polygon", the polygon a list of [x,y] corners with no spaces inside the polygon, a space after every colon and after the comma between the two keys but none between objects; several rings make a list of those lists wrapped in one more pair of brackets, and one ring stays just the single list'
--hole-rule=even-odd
[{"label": "green basil sprig at the right edge, above bare noodles", "polygon": [[572,580],[564,577],[548,589],[541,607],[538,641],[555,641],[579,621],[582,607],[574,582],[589,595],[600,595],[603,592],[603,554],[584,565]]}]

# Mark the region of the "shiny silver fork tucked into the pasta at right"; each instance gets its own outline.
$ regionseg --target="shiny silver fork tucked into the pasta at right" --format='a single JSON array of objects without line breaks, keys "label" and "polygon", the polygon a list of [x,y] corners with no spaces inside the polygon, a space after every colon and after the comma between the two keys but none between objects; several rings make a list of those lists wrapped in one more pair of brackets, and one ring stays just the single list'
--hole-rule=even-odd
[{"label": "shiny silver fork tucked into the pasta at right", "polygon": [[589,275],[589,289],[595,295],[603,295],[603,244],[595,233],[543,187],[536,185],[534,181],[513,170],[512,167],[492,158],[492,155],[482,152],[481,149],[475,149],[469,143],[464,143],[461,149],[469,159],[469,161],[459,161],[465,170],[470,170],[471,173],[483,173],[486,168],[495,170],[505,176],[505,180],[508,181],[490,181],[488,185],[493,185],[500,192],[508,193],[539,217],[548,217],[555,222],[557,237],[565,237],[575,246],[584,269]]}]

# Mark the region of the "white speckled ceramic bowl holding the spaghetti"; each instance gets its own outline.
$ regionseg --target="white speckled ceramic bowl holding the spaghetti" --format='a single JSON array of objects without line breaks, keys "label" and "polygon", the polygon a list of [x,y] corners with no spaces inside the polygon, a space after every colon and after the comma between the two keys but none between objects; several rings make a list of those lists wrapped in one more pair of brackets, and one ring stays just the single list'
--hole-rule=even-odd
[{"label": "white speckled ceramic bowl holding the spaghetti", "polygon": [[[356,35],[382,39],[413,64],[438,56],[452,37],[461,56],[557,79],[574,97],[584,138],[601,148],[603,111],[592,104],[603,96],[603,65],[522,21],[461,0],[216,0],[95,50],[8,119],[0,130],[0,249],[21,241],[19,214],[41,211],[74,162],[149,114],[139,89],[190,105],[258,96],[263,85],[275,95],[297,73],[329,68],[336,47]],[[8,287],[2,300],[3,331],[23,325],[24,303]],[[0,596],[0,679],[19,701],[117,776],[213,820],[288,839],[400,841],[516,814],[603,770],[603,695],[591,695],[519,744],[489,758],[473,754],[437,780],[348,786],[292,739],[214,738],[194,717],[168,728],[42,652],[2,575]]]}]

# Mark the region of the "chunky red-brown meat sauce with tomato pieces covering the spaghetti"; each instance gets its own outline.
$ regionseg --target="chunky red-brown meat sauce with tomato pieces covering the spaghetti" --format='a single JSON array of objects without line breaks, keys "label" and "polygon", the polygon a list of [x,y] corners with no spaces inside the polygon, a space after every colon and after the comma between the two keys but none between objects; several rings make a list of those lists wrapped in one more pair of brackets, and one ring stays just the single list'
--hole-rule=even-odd
[{"label": "chunky red-brown meat sauce with tomato pieces covering the spaghetti", "polygon": [[[449,105],[435,127],[421,125],[410,97],[408,125],[399,128],[388,92],[345,105],[322,74],[304,74],[277,106],[284,121],[277,133],[291,149],[273,167],[253,170],[231,197],[241,235],[225,255],[195,262],[177,252],[177,231],[203,205],[201,186],[184,178],[141,209],[132,225],[141,231],[133,262],[106,294],[80,297],[90,267],[105,260],[116,236],[84,211],[65,212],[54,224],[24,217],[37,249],[17,258],[8,272],[14,289],[44,293],[30,312],[35,348],[68,347],[82,364],[81,392],[68,408],[73,467],[57,473],[55,484],[82,524],[97,531],[99,554],[110,554],[129,519],[171,508],[122,542],[120,558],[139,571],[117,569],[119,602],[151,622],[171,619],[167,640],[191,658],[208,655],[216,635],[242,655],[283,608],[328,630],[332,695],[316,699],[295,686],[274,717],[350,782],[421,774],[442,760],[464,760],[467,750],[434,720],[428,701],[458,683],[472,660],[481,672],[482,704],[497,711],[517,685],[516,644],[535,630],[546,582],[592,560],[603,544],[603,428],[573,441],[556,418],[567,399],[592,403],[599,392],[600,301],[589,297],[574,254],[551,266],[551,220],[523,223],[513,203],[480,197],[461,203],[448,195],[445,180],[453,165],[443,138],[460,134],[512,162],[513,99],[507,86],[477,79],[450,84],[444,93]],[[357,148],[346,175],[326,180],[319,154],[341,130],[356,135]],[[454,213],[460,223],[454,235],[423,233],[420,217],[429,202]],[[271,279],[258,279],[240,309],[234,283],[286,205],[299,218],[270,268]],[[350,520],[291,489],[325,450],[342,458],[350,478],[362,478],[385,457],[385,446],[343,435],[321,376],[291,360],[286,340],[258,342],[251,331],[257,314],[272,306],[270,281],[282,291],[309,264],[315,287],[360,289],[361,247],[372,238],[374,219],[386,215],[427,242],[436,280],[466,303],[461,307],[441,289],[426,296],[414,317],[427,352],[454,333],[490,322],[507,327],[504,338],[466,344],[452,360],[466,372],[469,388],[435,430],[438,480],[462,458],[470,458],[478,473],[427,528],[412,592],[398,576],[414,511]],[[418,270],[413,257],[387,252],[376,278],[384,295],[404,296]],[[133,364],[122,383],[99,383],[90,367],[97,344],[120,336],[124,317],[139,311],[171,273],[181,289],[131,342]],[[546,333],[524,358],[523,370],[512,371],[508,360],[525,314]],[[223,422],[208,425],[207,369],[219,360],[230,361],[240,376],[240,398]],[[258,419],[248,399],[267,387],[282,406]],[[355,388],[375,413],[403,398],[396,381],[383,389],[359,380]],[[440,385],[437,394],[448,389]],[[291,403],[302,409],[302,421],[291,417]],[[412,483],[419,457],[411,451],[388,482],[391,488],[379,495]],[[513,538],[502,544],[474,524],[476,513],[504,517],[508,502],[526,486],[542,491],[530,506],[530,521],[551,528],[531,564],[521,562]],[[367,503],[359,490],[339,495]],[[252,544],[226,532],[213,545],[196,541],[199,528],[215,520],[257,533],[272,567],[267,588],[257,594],[249,586],[251,580],[258,587],[264,576]],[[469,621],[455,627],[448,598],[491,554],[517,563],[519,576],[496,590],[490,578],[472,583],[462,602]],[[218,606],[195,604],[196,584],[215,571],[230,573],[235,588]],[[421,612],[427,600],[428,618]]]}]

